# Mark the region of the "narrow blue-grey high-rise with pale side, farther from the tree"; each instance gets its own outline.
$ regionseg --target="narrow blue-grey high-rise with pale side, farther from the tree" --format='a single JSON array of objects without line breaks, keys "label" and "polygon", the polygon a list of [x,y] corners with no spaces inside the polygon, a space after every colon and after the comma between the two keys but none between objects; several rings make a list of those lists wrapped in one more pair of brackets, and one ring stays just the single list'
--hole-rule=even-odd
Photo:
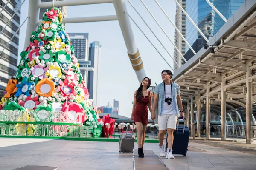
[{"label": "narrow blue-grey high-rise with pale side, farther from the tree", "polygon": [[96,106],[99,99],[99,74],[100,74],[100,60],[101,60],[101,45],[99,41],[90,43],[89,46],[89,60],[93,71],[88,72],[87,87],[89,90],[90,98],[93,99],[93,106]]}]

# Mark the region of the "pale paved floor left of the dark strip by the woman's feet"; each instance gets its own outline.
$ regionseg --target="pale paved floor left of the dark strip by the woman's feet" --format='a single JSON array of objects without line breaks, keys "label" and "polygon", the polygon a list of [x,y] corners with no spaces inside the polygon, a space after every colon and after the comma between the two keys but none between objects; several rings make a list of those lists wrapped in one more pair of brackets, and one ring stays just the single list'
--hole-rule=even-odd
[{"label": "pale paved floor left of the dark strip by the woman's feet", "polygon": [[[20,140],[22,139],[7,139]],[[28,139],[26,139],[28,140]],[[36,141],[36,140],[35,140]],[[5,142],[0,139],[0,143]],[[47,140],[0,147],[0,170],[24,165],[61,167],[58,170],[129,170],[132,153],[118,153],[118,142]]]}]

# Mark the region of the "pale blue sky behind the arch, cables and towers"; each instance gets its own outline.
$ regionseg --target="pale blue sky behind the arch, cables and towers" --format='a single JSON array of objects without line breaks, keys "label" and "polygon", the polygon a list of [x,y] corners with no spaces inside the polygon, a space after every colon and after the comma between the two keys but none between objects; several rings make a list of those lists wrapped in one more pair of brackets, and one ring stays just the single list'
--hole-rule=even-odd
[{"label": "pale blue sky behind the arch, cables and towers", "polygon": [[[23,21],[28,16],[28,2],[29,1],[26,0],[21,7],[20,23],[23,23]],[[125,2],[128,14],[130,14],[133,20],[135,20],[135,22],[140,26],[149,40],[151,40],[157,50],[160,51],[163,57],[167,60],[169,65],[173,67],[173,61],[171,57],[160,45],[151,31],[147,28],[145,23],[143,23],[143,20],[141,20],[139,15],[136,13],[136,11],[134,11],[128,1]],[[143,6],[143,3],[141,3],[140,0],[131,0],[131,2],[173,57],[174,46],[148,13],[146,8]],[[158,2],[169,15],[172,22],[175,23],[175,1],[158,0]],[[144,3],[146,6],[148,6],[154,17],[166,31],[172,42],[174,42],[175,28],[163,14],[161,9],[157,6],[157,3],[155,3],[154,0],[144,0]],[[67,18],[115,14],[116,11],[113,3],[67,7]],[[162,59],[162,57],[154,49],[151,43],[145,38],[142,32],[132,21],[131,26],[135,38],[135,43],[140,51],[140,56],[143,61],[146,75],[152,80],[151,85],[155,85],[155,83],[159,84],[162,82],[160,77],[161,72],[164,69],[171,70],[171,68]],[[26,47],[24,47],[26,27],[27,24],[25,23],[20,28],[19,54],[24,49],[26,49]],[[134,97],[134,91],[137,90],[140,82],[138,81],[135,71],[133,70],[129,60],[127,48],[125,46],[125,41],[123,39],[118,21],[70,23],[66,24],[66,32],[89,33],[89,43],[93,41],[100,42],[102,45],[102,55],[99,74],[98,107],[106,106],[108,102],[111,102],[111,105],[113,106],[113,100],[115,99],[119,101],[119,115],[130,117],[133,106],[132,101]],[[20,59],[20,55],[18,57]],[[149,113],[149,116],[150,115],[151,114]]]}]

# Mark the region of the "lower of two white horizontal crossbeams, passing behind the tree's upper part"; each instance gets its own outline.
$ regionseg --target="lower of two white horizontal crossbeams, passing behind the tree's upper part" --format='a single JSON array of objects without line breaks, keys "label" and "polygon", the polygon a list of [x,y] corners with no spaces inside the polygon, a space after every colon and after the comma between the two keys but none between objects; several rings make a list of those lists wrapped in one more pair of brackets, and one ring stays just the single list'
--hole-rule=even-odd
[{"label": "lower of two white horizontal crossbeams, passing behind the tree's upper part", "polygon": [[[99,22],[99,21],[116,21],[118,20],[116,15],[107,16],[95,16],[95,17],[77,17],[77,18],[63,18],[61,23],[87,23],[87,22]],[[43,21],[38,20],[38,24]]]}]

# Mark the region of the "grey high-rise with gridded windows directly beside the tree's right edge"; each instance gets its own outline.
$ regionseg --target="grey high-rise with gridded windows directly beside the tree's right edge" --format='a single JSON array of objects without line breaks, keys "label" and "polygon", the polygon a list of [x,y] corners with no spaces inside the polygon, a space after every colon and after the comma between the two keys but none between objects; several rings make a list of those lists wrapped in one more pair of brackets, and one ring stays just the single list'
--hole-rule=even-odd
[{"label": "grey high-rise with gridded windows directly beside the tree's right edge", "polygon": [[89,34],[88,33],[68,33],[68,35],[74,47],[75,56],[78,60],[81,74],[83,75],[86,86],[88,86],[87,85],[88,71],[93,71],[93,68],[90,67],[91,62],[88,61]]}]

